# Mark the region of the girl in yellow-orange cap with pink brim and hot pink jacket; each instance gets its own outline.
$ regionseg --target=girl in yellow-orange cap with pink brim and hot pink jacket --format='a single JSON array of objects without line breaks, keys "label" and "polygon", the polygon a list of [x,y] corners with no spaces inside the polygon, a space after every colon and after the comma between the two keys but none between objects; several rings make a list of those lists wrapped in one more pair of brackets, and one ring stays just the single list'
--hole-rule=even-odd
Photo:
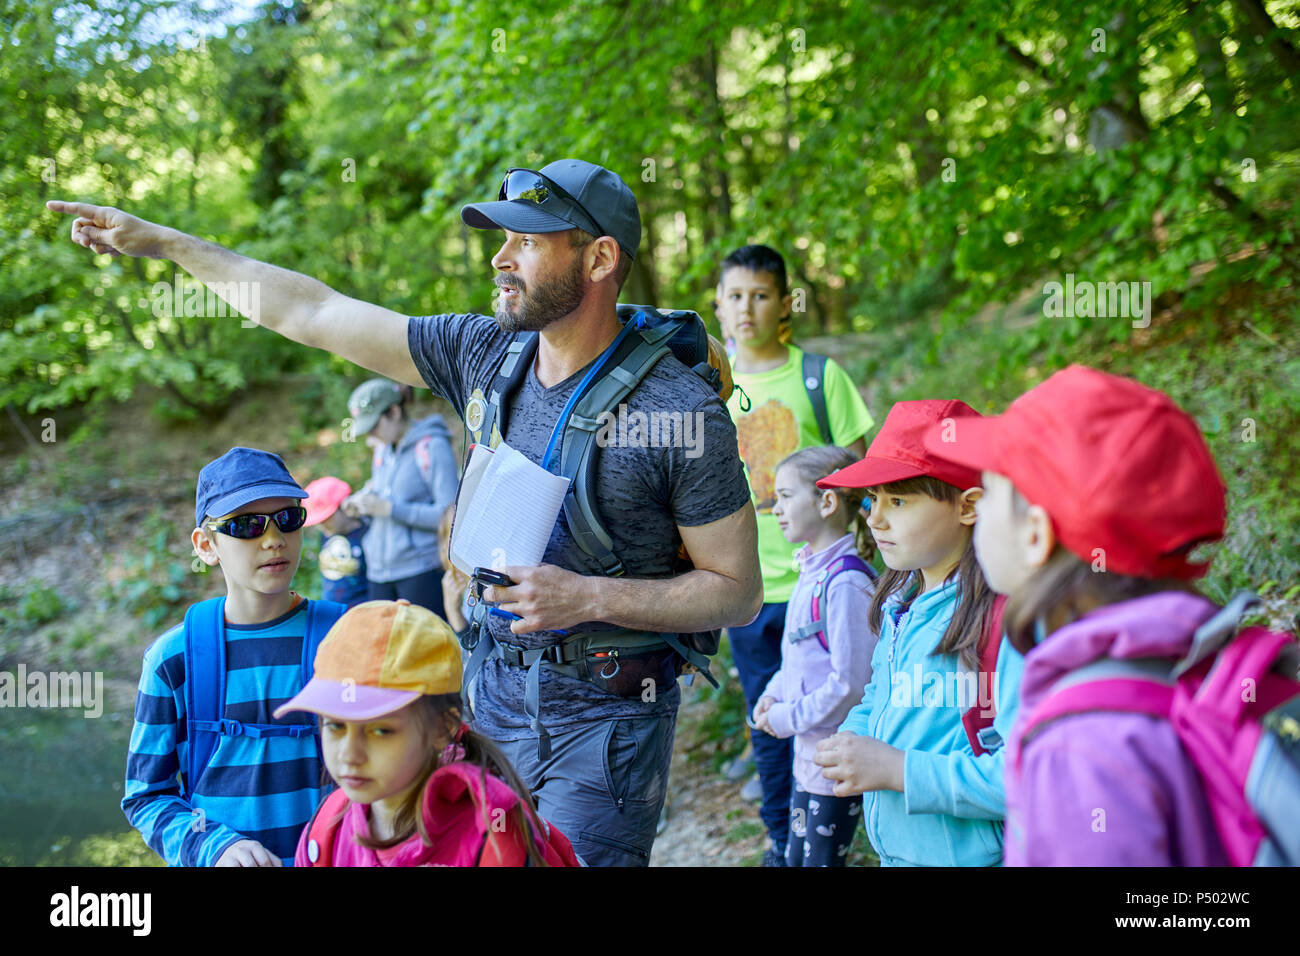
[{"label": "girl in yellow-orange cap with pink brim and hot pink jacket", "polygon": [[433,611],[368,601],[330,628],[276,710],[320,715],[338,783],[295,866],[577,866],[495,744],[460,719],[460,648]]}]

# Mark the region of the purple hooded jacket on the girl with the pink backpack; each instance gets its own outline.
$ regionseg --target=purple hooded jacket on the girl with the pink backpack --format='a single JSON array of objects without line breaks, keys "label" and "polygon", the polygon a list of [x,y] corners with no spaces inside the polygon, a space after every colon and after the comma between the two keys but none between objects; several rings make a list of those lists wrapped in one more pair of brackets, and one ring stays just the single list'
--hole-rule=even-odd
[{"label": "purple hooded jacket on the girl with the pink backpack", "polygon": [[[1218,609],[1165,592],[1100,607],[1024,657],[1020,709],[1009,741],[1052,685],[1101,657],[1187,653]],[[1225,866],[1196,767],[1173,726],[1143,714],[1092,713],[1046,723],[1006,765],[1009,866]]]}]

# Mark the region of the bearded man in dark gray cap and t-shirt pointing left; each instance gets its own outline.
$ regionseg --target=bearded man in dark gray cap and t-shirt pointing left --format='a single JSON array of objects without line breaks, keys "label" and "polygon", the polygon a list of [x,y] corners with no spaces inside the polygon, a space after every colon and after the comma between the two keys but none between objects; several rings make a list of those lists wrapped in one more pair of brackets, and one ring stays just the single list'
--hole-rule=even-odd
[{"label": "bearded man in dark gray cap and t-shirt pointing left", "polygon": [[[491,260],[495,317],[410,317],[120,209],[49,207],[74,215],[73,241],[96,252],[170,259],[217,294],[257,282],[263,325],[394,381],[428,385],[471,419],[481,416],[516,333],[540,333],[536,359],[507,402],[503,436],[538,463],[580,373],[623,328],[615,306],[641,239],[636,198],[608,169],[580,160],[511,169],[495,202],[462,211],[469,226],[504,232]],[[668,355],[625,403],[629,416],[693,415],[702,423],[702,454],[630,441],[602,447],[594,490],[623,576],[606,576],[576,548],[566,520],[555,523],[536,567],[512,564],[510,541],[502,542],[515,584],[489,588],[485,600],[519,619],[489,617],[485,627],[515,656],[489,658],[474,692],[476,727],[502,745],[542,816],[592,865],[649,861],[667,790],[677,684],[624,697],[573,676],[573,669],[543,667],[538,688],[528,684],[520,659],[558,646],[562,632],[690,633],[748,623],[762,606],[754,509],[736,429],[718,395]],[[679,548],[692,570],[680,570]],[[549,752],[538,743],[538,706]]]}]

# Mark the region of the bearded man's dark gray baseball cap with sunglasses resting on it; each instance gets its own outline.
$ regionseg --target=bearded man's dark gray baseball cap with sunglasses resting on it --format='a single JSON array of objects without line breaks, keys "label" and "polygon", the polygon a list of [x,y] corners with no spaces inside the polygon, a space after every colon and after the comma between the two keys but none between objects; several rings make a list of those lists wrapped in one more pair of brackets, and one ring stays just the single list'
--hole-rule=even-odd
[{"label": "bearded man's dark gray baseball cap with sunglasses resting on it", "polygon": [[[467,226],[510,229],[512,233],[585,229],[595,235],[612,237],[629,259],[636,259],[641,246],[641,213],[637,198],[616,173],[582,160],[556,160],[537,172],[511,169],[506,183],[497,202],[471,203],[460,209],[460,219]],[[568,198],[549,189],[549,185],[559,186]],[[507,194],[516,198],[507,199]],[[569,199],[581,208],[575,208]],[[594,230],[588,217],[594,221]]]}]

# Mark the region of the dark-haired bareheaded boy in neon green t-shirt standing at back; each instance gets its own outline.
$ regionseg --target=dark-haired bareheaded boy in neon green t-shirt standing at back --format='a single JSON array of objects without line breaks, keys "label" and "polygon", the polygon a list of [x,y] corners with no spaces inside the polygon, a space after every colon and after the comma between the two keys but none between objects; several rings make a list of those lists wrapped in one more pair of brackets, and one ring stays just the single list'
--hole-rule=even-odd
[{"label": "dark-haired bareheaded boy in neon green t-shirt standing at back", "polygon": [[[803,351],[789,343],[792,297],[785,260],[767,246],[744,246],[723,260],[718,282],[718,317],[728,338],[734,338],[732,376],[750,399],[740,407],[740,392],[727,406],[736,421],[740,457],[749,472],[758,511],[758,557],[763,568],[763,610],[751,624],[728,628],[732,656],[745,692],[746,714],[781,666],[785,602],[798,580],[796,549],[785,540],[772,515],[776,463],[811,445],[840,445],[857,457],[866,454],[867,431],[874,424],[853,381],[832,359],[820,377],[810,373]],[[818,364],[818,363],[814,363]],[[824,421],[818,423],[814,399],[824,397]],[[772,847],[764,866],[781,866],[789,832],[792,748],[789,740],[753,734],[754,763],[763,786],[759,816]]]}]

